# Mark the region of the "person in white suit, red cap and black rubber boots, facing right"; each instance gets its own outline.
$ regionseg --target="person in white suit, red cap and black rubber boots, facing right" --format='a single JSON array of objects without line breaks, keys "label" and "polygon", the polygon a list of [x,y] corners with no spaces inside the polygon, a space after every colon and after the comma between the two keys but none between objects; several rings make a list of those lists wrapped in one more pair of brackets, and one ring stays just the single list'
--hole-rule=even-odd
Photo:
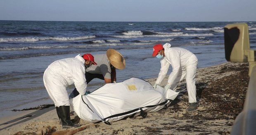
[{"label": "person in white suit, red cap and black rubber boots, facing right", "polygon": [[47,93],[53,100],[63,128],[78,127],[70,120],[69,95],[66,87],[75,84],[77,91],[86,92],[85,69],[96,65],[91,54],[78,54],[75,58],[64,58],[50,64],[44,72],[43,81]]}]

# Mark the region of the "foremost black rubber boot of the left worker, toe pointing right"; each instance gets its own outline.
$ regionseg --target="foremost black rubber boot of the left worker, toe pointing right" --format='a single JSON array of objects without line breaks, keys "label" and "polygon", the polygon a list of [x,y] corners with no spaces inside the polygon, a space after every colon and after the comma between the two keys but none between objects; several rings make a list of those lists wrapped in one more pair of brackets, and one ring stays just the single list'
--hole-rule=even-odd
[{"label": "foremost black rubber boot of the left worker, toe pointing right", "polygon": [[60,106],[59,107],[59,112],[60,112],[60,117],[62,120],[62,128],[76,128],[79,127],[80,125],[74,124],[70,120],[70,114],[69,114],[69,106]]}]

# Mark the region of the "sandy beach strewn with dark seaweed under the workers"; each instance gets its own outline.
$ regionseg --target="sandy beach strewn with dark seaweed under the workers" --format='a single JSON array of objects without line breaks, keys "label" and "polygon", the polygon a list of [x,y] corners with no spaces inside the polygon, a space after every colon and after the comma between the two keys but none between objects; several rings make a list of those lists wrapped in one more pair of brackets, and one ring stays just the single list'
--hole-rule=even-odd
[{"label": "sandy beach strewn with dark seaweed under the workers", "polygon": [[[164,86],[167,77],[162,82]],[[186,112],[188,96],[186,82],[178,84],[178,97],[167,109],[148,113],[146,118],[130,117],[120,121],[89,123],[71,116],[86,126],[74,135],[229,135],[233,121],[242,111],[249,83],[247,63],[224,63],[197,69],[198,109]],[[147,79],[154,84],[156,78]],[[19,131],[35,132],[43,126],[55,126],[53,132],[66,130],[59,125],[55,107],[11,112],[0,119],[0,134],[13,135]],[[72,128],[71,128],[72,129]]]}]

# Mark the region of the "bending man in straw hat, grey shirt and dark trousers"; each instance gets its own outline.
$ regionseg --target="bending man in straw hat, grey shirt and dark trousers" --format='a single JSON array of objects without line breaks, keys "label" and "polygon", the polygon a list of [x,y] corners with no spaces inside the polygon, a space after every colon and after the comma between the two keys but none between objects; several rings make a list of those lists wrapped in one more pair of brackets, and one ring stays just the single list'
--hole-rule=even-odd
[{"label": "bending man in straw hat, grey shirt and dark trousers", "polygon": [[[115,49],[108,49],[105,54],[94,55],[94,60],[97,61],[97,65],[92,65],[85,70],[87,84],[94,78],[102,79],[106,84],[116,83],[116,68],[122,70],[126,67],[123,56]],[[88,93],[90,92],[88,91],[85,95]],[[74,98],[77,95],[79,93],[75,88],[69,98]]]}]

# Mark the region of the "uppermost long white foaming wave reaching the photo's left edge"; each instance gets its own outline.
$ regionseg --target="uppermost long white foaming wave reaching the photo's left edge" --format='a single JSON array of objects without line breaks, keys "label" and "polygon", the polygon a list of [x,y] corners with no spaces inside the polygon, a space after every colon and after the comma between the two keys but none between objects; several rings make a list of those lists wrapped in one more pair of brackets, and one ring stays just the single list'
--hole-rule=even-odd
[{"label": "uppermost long white foaming wave reaching the photo's left edge", "polygon": [[0,38],[0,42],[37,42],[42,40],[85,40],[88,38],[95,38],[94,36],[82,36],[82,37],[11,37],[11,38]]}]

